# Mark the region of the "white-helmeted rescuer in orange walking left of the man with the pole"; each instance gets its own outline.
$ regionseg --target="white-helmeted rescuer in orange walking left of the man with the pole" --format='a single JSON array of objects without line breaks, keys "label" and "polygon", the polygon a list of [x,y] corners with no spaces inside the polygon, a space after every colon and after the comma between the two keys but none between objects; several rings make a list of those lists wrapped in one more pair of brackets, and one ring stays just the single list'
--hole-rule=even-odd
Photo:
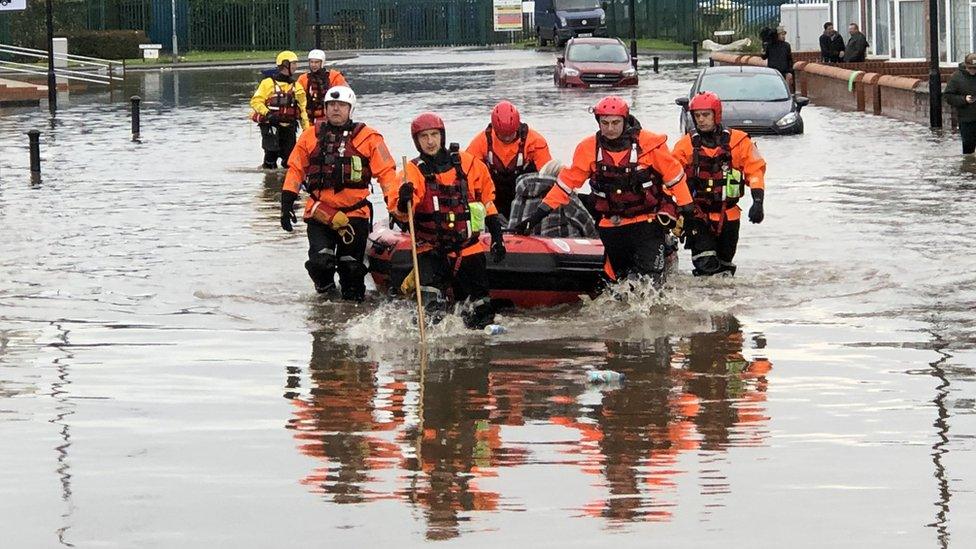
[{"label": "white-helmeted rescuer in orange walking left of the man with the pole", "polygon": [[396,162],[383,136],[353,122],[356,94],[346,86],[326,92],[325,119],[305,130],[288,158],[281,190],[281,228],[291,232],[293,212],[304,183],[309,198],[303,218],[308,225],[305,269],[315,291],[335,290],[339,272],[342,299],[362,301],[366,294],[366,237],[372,227],[370,180],[383,189],[396,185]]}]

